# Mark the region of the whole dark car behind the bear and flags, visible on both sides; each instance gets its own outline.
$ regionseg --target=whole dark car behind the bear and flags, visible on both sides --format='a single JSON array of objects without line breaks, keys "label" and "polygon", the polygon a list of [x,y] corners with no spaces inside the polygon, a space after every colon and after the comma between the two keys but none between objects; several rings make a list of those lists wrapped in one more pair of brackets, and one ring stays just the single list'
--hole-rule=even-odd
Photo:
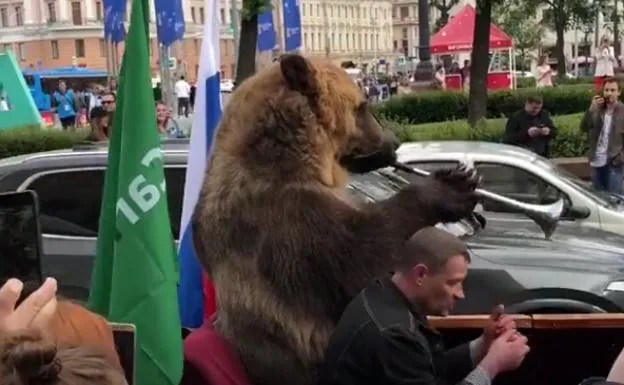
[{"label": "whole dark car behind the bear and flags, visible on both sides", "polygon": [[[162,149],[177,238],[188,141],[166,141]],[[0,192],[31,189],[39,196],[42,270],[59,280],[60,293],[68,298],[88,298],[106,165],[107,148],[101,144],[0,160]],[[385,199],[407,183],[394,175],[354,175],[349,191],[357,199]],[[445,225],[465,239],[472,254],[467,299],[456,313],[489,312],[499,302],[522,313],[624,308],[624,238],[599,230],[578,238],[560,228],[546,240],[537,225],[523,222],[484,227],[485,220],[475,215]]]}]

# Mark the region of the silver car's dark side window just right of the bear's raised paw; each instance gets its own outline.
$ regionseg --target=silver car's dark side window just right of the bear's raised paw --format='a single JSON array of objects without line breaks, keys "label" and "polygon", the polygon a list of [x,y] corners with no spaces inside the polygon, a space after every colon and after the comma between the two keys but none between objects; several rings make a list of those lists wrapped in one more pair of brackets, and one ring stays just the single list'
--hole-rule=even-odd
[{"label": "silver car's dark side window just right of the bear's raised paw", "polygon": [[[518,167],[494,164],[475,163],[475,168],[481,175],[481,187],[484,190],[503,195],[524,203],[551,204],[561,199],[561,192],[533,173]],[[484,205],[486,211],[488,207]]]}]

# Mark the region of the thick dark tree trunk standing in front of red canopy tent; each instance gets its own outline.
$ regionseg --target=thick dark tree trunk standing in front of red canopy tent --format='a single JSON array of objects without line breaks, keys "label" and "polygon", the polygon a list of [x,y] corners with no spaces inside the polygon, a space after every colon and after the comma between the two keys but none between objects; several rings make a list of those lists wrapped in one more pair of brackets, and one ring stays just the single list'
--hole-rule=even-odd
[{"label": "thick dark tree trunk standing in front of red canopy tent", "polygon": [[475,29],[470,58],[470,91],[468,97],[468,122],[475,126],[486,117],[487,112],[487,72],[490,54],[490,24],[492,3],[499,0],[477,0]]}]

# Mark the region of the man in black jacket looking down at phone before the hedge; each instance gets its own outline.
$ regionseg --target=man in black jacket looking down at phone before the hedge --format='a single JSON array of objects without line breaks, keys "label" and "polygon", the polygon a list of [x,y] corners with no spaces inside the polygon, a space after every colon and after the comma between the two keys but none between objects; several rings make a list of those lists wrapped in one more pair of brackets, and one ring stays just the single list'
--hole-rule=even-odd
[{"label": "man in black jacket looking down at phone before the hedge", "polygon": [[550,141],[557,136],[550,114],[544,110],[541,96],[527,96],[524,108],[507,120],[503,143],[524,147],[548,158]]}]

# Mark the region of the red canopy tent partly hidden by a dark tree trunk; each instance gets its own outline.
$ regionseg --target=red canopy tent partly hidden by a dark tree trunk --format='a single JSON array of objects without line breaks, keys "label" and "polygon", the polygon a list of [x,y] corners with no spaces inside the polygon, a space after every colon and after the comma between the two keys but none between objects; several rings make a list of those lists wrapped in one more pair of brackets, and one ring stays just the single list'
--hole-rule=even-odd
[{"label": "red canopy tent partly hidden by a dark tree trunk", "polygon": [[[472,5],[466,5],[455,17],[431,37],[431,53],[443,55],[450,53],[472,51],[476,11]],[[513,54],[513,39],[494,24],[490,24],[490,50],[509,53],[509,72],[513,74],[515,55]],[[512,88],[513,85],[513,76]]]}]

